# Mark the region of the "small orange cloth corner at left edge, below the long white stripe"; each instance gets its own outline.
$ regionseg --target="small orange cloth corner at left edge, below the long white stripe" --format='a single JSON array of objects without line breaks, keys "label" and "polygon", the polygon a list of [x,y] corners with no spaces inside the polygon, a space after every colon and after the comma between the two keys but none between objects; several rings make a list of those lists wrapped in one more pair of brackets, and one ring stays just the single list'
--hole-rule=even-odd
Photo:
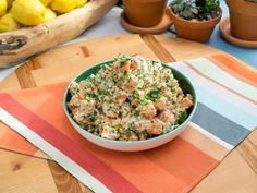
[{"label": "small orange cloth corner at left edge, below the long white stripe", "polygon": [[38,148],[27,142],[13,130],[10,130],[5,124],[0,122],[0,148],[19,152],[26,155],[34,155]]}]

